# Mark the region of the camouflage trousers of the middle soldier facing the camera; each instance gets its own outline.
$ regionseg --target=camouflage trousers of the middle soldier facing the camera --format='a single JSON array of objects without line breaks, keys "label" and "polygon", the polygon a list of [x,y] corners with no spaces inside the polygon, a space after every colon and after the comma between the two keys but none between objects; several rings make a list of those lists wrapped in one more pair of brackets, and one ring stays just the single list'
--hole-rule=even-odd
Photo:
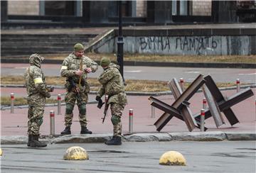
[{"label": "camouflage trousers of the middle soldier facing the camera", "polygon": [[78,98],[78,94],[70,91],[67,92],[65,95],[65,126],[69,127],[72,125],[73,121],[73,110],[75,107],[75,101],[77,101],[78,104],[78,110],[79,110],[79,122],[81,126],[87,125],[87,119],[86,119],[86,104],[88,101],[88,95],[85,92],[80,92],[80,98]]}]

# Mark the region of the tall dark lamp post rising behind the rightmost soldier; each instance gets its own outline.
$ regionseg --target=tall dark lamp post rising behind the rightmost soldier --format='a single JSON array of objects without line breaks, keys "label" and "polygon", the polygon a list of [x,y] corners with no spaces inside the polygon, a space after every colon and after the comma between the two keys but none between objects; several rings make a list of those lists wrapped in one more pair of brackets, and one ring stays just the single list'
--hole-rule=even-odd
[{"label": "tall dark lamp post rising behind the rightmost soldier", "polygon": [[117,63],[120,66],[120,73],[124,80],[124,38],[122,36],[122,1],[118,1],[119,20],[117,38]]}]

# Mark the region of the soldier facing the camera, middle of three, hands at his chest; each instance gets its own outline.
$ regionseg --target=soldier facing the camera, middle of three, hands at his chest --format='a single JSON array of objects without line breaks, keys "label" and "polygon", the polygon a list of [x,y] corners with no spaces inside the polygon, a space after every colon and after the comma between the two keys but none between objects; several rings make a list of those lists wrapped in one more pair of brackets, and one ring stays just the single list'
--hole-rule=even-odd
[{"label": "soldier facing the camera, middle of three, hands at his chest", "polygon": [[[82,67],[81,70],[80,66]],[[63,61],[60,73],[62,77],[67,78],[67,82],[65,83],[67,93],[65,95],[65,130],[61,132],[62,135],[71,134],[70,126],[73,120],[75,101],[77,101],[79,109],[80,133],[92,134],[87,129],[86,120],[87,94],[90,91],[90,86],[87,83],[87,73],[95,72],[97,68],[97,63],[84,55],[84,48],[80,43],[74,45],[74,52],[68,55]]]}]

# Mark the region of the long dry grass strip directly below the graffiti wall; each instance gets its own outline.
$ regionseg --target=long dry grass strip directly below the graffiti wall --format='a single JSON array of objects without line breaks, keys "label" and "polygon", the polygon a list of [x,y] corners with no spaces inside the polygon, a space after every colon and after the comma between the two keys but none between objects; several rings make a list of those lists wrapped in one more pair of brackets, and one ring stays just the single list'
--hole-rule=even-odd
[{"label": "long dry grass strip directly below the graffiti wall", "polygon": [[[86,53],[92,60],[100,60],[101,57],[109,57],[113,62],[117,61],[117,55],[110,53]],[[68,54],[43,55],[47,60],[64,60]],[[27,58],[27,57],[16,57]],[[147,55],[124,54],[124,61],[149,61],[149,62],[203,62],[203,63],[248,63],[256,64],[255,55]]]}]

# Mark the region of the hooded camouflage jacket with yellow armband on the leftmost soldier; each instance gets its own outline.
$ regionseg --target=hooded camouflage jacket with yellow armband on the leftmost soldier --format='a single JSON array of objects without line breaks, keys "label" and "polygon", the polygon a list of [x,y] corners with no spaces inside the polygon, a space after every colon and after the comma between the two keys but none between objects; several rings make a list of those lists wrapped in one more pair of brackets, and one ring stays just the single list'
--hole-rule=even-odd
[{"label": "hooded camouflage jacket with yellow armband on the leftmost soldier", "polygon": [[41,66],[36,60],[30,60],[30,64],[31,66],[26,69],[24,74],[27,94],[28,96],[37,94],[46,97],[46,95],[49,95],[49,92]]}]

